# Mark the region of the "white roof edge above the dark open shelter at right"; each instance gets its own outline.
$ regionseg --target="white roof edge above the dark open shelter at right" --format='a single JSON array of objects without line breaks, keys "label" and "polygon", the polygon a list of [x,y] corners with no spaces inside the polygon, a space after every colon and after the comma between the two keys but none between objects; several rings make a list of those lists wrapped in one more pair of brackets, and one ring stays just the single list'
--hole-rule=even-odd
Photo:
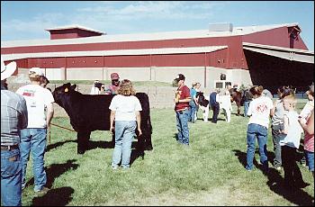
[{"label": "white roof edge above the dark open shelter at right", "polygon": [[243,49],[263,53],[277,58],[314,64],[314,51],[304,49],[288,49],[270,45],[260,45],[243,42]]}]

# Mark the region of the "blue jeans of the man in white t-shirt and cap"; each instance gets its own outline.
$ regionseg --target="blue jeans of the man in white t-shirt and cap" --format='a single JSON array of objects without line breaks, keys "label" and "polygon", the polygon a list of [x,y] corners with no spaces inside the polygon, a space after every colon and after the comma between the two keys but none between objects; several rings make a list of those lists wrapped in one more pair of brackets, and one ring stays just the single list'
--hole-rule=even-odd
[{"label": "blue jeans of the man in white t-shirt and cap", "polygon": [[26,184],[26,168],[32,157],[32,171],[34,174],[34,191],[40,191],[47,183],[47,175],[44,169],[44,154],[46,149],[47,129],[28,128],[21,130],[21,157],[23,166],[22,186]]}]

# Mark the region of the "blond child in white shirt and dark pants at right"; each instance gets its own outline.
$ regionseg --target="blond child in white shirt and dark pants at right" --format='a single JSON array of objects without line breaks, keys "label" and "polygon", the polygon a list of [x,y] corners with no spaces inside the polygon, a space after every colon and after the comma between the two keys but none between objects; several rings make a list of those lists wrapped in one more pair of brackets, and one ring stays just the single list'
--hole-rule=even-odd
[{"label": "blond child in white shirt and dark pants at right", "polygon": [[288,187],[306,187],[299,166],[296,164],[296,149],[300,146],[302,127],[299,114],[295,112],[296,100],[293,95],[284,99],[284,130],[285,136],[280,140],[281,159],[284,166],[284,184]]}]

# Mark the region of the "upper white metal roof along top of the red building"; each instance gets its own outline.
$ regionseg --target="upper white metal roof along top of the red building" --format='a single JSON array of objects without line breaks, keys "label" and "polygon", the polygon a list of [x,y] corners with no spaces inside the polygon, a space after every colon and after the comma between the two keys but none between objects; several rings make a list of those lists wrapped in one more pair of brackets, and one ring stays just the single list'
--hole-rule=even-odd
[{"label": "upper white metal roof along top of the red building", "polygon": [[294,27],[294,26],[298,26],[298,23],[233,27],[233,31],[209,31],[209,30],[165,31],[165,32],[151,32],[151,33],[102,35],[102,36],[97,36],[97,37],[59,39],[59,40],[14,40],[14,41],[1,41],[1,48],[139,41],[139,40],[176,40],[176,39],[194,39],[194,38],[209,38],[209,37],[229,37],[229,36],[246,35],[246,34],[255,33],[258,31],[267,31],[267,30],[272,30],[275,28]]}]

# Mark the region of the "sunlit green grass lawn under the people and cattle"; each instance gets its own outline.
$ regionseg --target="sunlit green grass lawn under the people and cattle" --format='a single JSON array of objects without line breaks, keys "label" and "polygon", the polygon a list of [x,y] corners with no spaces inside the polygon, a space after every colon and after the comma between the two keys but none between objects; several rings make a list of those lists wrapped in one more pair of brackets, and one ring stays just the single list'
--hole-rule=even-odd
[{"label": "sunlit green grass lawn under the people and cattle", "polygon": [[[305,103],[305,102],[304,102]],[[299,104],[301,110],[304,103]],[[235,106],[233,106],[236,112]],[[209,114],[211,117],[211,112]],[[132,158],[129,170],[113,171],[109,131],[94,131],[90,149],[76,154],[76,132],[51,127],[51,143],[45,155],[49,193],[33,193],[31,161],[23,205],[311,205],[314,184],[311,172],[299,164],[304,189],[284,189],[284,172],[258,166],[247,172],[247,118],[231,116],[217,124],[199,120],[189,125],[190,148],[176,144],[173,109],[152,109],[152,142],[144,159]],[[53,123],[71,128],[67,118]],[[135,139],[135,142],[137,140]],[[269,130],[269,159],[274,157]]]}]

